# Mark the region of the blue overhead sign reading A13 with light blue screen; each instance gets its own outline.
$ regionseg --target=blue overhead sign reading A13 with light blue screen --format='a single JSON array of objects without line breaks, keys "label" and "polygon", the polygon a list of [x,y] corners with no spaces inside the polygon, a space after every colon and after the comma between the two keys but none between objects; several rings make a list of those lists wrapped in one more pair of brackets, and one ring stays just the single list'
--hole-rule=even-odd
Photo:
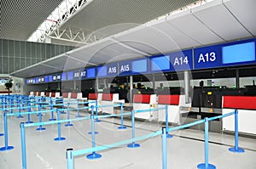
[{"label": "blue overhead sign reading A13 with light blue screen", "polygon": [[253,64],[255,48],[255,39],[195,48],[195,69]]}]

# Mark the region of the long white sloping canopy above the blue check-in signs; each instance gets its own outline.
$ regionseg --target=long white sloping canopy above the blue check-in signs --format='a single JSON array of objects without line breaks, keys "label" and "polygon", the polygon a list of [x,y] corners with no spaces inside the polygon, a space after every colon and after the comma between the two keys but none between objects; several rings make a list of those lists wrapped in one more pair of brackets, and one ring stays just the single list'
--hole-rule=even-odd
[{"label": "long white sloping canopy above the blue check-in signs", "polygon": [[[108,4],[103,4],[108,7]],[[88,43],[66,54],[45,60],[38,65],[18,70],[12,75],[20,77],[40,76],[62,70],[78,69],[123,59],[134,59],[185,48],[255,37],[255,6],[255,0],[244,0],[242,3],[239,0],[215,0],[200,7],[191,8],[182,13],[166,16],[160,20],[154,20],[136,27],[134,24],[108,25],[102,30],[106,31],[107,34],[110,32],[110,37]],[[103,10],[103,7],[97,9]],[[90,12],[93,13],[89,10],[88,14]],[[86,12],[84,11],[84,13]],[[98,17],[102,17],[102,15]],[[108,15],[108,17],[110,16]],[[122,17],[125,20],[124,14],[114,18],[119,18],[121,23]],[[83,15],[79,16],[77,14],[73,17],[73,20],[67,20],[66,24],[77,23],[79,19],[82,20]],[[98,18],[98,20],[102,19]],[[97,29],[102,26],[101,24],[104,21],[102,20],[99,24],[94,25],[91,20],[91,25],[89,25],[93,25]],[[110,22],[111,20],[108,21],[108,23]],[[85,22],[79,24],[86,25]],[[111,22],[111,24],[113,23]],[[120,30],[122,31],[119,32]]]}]

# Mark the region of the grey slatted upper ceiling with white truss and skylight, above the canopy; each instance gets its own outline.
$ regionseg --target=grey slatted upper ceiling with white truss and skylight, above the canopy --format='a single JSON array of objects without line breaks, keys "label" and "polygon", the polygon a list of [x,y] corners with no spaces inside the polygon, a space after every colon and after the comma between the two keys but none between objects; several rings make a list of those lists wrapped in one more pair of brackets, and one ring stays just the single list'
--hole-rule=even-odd
[{"label": "grey slatted upper ceiling with white truss and skylight, above the canopy", "polygon": [[[52,18],[52,24],[55,24],[57,29],[54,31],[47,31],[52,39],[52,43],[81,46],[84,43],[91,42],[94,38],[98,40],[101,37],[116,34],[119,31],[124,31],[137,24],[143,24],[149,20],[172,12],[177,8],[183,8],[186,5],[193,4],[198,0],[133,0],[133,1],[119,1],[119,0],[56,0],[56,1],[1,1],[1,34],[0,38],[12,39],[19,41],[26,41],[34,31],[40,27],[45,20],[50,21],[49,17],[55,8],[60,8],[59,14],[65,12],[63,3],[70,4],[76,2],[79,8],[75,5],[72,10],[67,7],[67,12],[59,16],[59,20]],[[203,1],[202,1],[203,2]],[[62,5],[61,5],[62,4]],[[79,6],[80,5],[80,6]],[[76,12],[76,10],[78,12]],[[70,17],[67,15],[70,13]],[[56,23],[62,21],[61,25]],[[125,24],[117,26],[113,29],[108,29],[109,25]],[[46,26],[48,27],[48,26]],[[40,27],[40,29],[44,29]],[[52,29],[50,29],[52,30]],[[65,33],[62,33],[65,31]],[[83,35],[79,35],[78,31]],[[62,36],[60,38],[60,35]],[[90,34],[96,33],[96,37]],[[71,36],[70,36],[71,34]],[[84,43],[81,42],[79,37],[83,37]],[[99,37],[100,36],[100,37]],[[90,39],[90,37],[92,37]],[[72,39],[73,41],[71,41]],[[43,39],[44,40],[44,39]],[[78,41],[79,40],[79,41]],[[94,42],[95,40],[93,40]],[[42,42],[42,41],[40,41]]]}]

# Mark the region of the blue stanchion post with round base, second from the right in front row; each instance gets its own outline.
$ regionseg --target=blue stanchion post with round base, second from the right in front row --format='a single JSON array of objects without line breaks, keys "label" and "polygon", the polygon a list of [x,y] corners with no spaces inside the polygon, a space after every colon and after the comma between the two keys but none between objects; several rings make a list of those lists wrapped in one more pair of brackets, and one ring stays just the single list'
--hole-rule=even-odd
[{"label": "blue stanchion post with round base, second from the right in front row", "polygon": [[208,147],[209,144],[209,121],[208,118],[205,118],[205,163],[201,163],[199,165],[197,165],[197,168],[199,169],[215,169],[216,166],[209,164],[208,162]]}]

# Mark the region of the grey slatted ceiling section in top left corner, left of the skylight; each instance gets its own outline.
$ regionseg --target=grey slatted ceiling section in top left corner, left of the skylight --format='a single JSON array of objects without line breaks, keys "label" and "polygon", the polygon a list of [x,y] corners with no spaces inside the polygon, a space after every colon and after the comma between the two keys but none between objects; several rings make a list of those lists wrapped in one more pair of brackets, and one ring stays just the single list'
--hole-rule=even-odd
[{"label": "grey slatted ceiling section in top left corner, left of the skylight", "polygon": [[62,0],[1,0],[0,38],[26,41]]}]

